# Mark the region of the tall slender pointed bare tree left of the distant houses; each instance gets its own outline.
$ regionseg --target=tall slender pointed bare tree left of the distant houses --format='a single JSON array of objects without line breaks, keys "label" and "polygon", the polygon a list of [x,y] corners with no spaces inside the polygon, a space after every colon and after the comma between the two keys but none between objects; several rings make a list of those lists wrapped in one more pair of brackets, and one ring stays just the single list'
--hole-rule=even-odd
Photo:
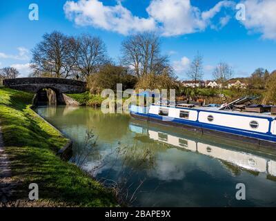
[{"label": "tall slender pointed bare tree left of the distant houses", "polygon": [[193,59],[192,63],[190,64],[190,68],[187,72],[188,77],[194,81],[195,84],[195,93],[197,91],[197,82],[201,81],[204,73],[203,73],[203,57],[197,52],[195,58]]}]

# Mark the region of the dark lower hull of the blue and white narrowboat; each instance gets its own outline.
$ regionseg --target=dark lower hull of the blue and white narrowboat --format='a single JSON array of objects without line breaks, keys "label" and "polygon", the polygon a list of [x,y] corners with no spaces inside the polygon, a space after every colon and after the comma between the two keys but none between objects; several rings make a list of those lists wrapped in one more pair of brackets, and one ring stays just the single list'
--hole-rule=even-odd
[{"label": "dark lower hull of the blue and white narrowboat", "polygon": [[168,121],[162,120],[157,117],[151,117],[150,115],[143,115],[140,113],[130,113],[130,115],[135,119],[153,122],[156,124],[162,124],[162,125],[166,125],[166,126],[174,126],[177,128],[183,128],[184,130],[193,131],[195,133],[201,133],[202,135],[205,134],[205,135],[211,135],[211,136],[215,136],[215,137],[224,137],[228,140],[235,140],[235,141],[244,142],[247,144],[253,144],[256,146],[264,146],[266,148],[276,148],[276,142],[270,142],[267,140],[258,139],[256,137],[248,137],[248,136],[244,136],[244,135],[228,133],[225,131],[219,131],[219,130],[210,129],[210,128],[204,128],[204,126],[202,126],[202,124],[200,124],[200,123],[195,123],[194,125],[188,125],[188,124],[174,122],[174,121],[170,121],[170,120],[168,120]]}]

